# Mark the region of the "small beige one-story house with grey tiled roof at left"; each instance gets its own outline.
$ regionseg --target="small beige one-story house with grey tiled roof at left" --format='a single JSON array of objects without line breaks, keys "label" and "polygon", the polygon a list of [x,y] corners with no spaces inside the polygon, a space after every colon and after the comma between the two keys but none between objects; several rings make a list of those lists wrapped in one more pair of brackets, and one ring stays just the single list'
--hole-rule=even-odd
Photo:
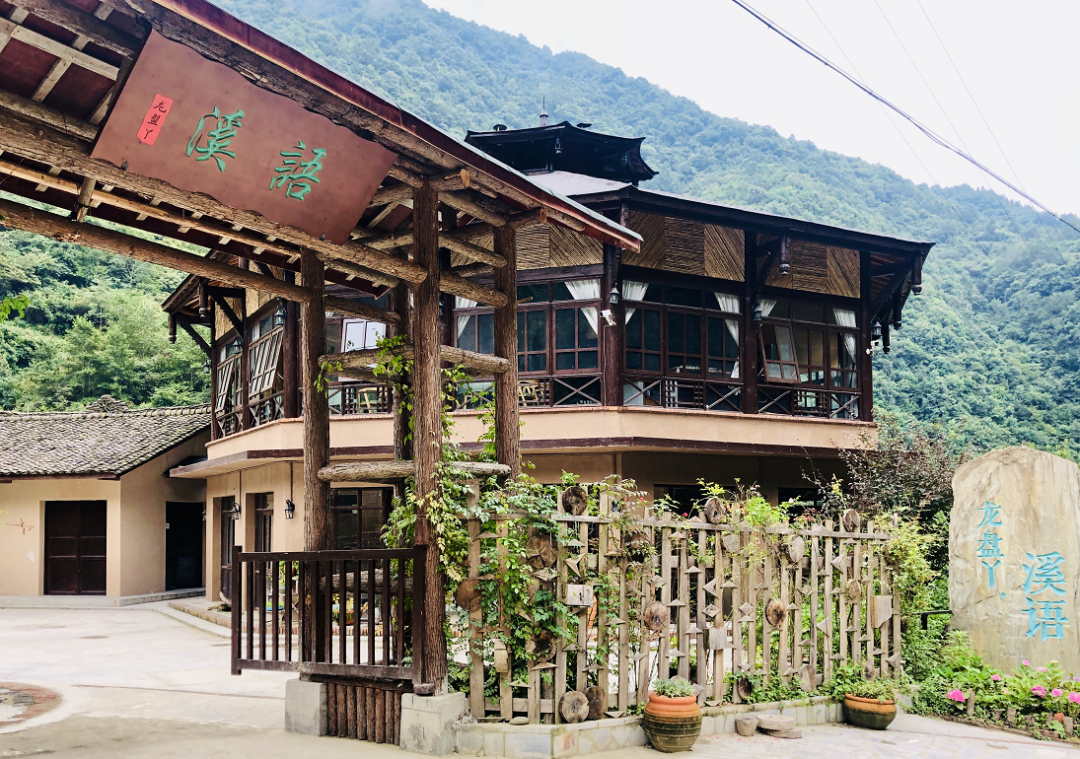
[{"label": "small beige one-story house with grey tiled roof at left", "polygon": [[206,457],[210,407],[0,411],[0,597],[103,604],[203,587],[205,484],[170,476]]}]

